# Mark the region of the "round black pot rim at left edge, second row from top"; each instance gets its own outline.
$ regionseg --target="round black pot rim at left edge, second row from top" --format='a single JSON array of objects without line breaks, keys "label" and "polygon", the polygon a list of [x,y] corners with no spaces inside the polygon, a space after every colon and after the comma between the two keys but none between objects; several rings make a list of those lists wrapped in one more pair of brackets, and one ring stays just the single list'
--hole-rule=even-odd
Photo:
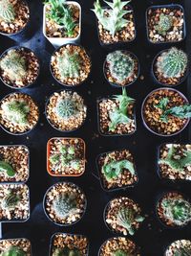
[{"label": "round black pot rim at left edge, second row from top", "polygon": [[[11,51],[11,50],[13,50],[13,49],[15,49],[15,50],[24,49],[26,52],[32,52],[32,50],[29,49],[29,48],[27,48],[27,47],[23,47],[23,46],[13,46],[13,47],[7,49],[5,52],[3,52],[3,54],[0,56],[0,59],[1,59],[1,58],[4,58],[4,56],[6,56],[6,55],[9,53],[9,51]],[[32,52],[32,53],[33,53],[33,52]],[[33,54],[34,54],[34,53],[33,53]],[[35,55],[35,58],[37,58],[36,55]],[[35,79],[34,81],[32,81],[31,83],[27,84],[26,86],[23,86],[23,87],[12,86],[11,84],[9,84],[9,83],[7,83],[7,82],[5,82],[5,81],[3,80],[3,78],[2,78],[1,75],[0,75],[0,80],[1,80],[5,85],[7,85],[8,87],[10,87],[11,89],[14,89],[14,90],[22,90],[22,89],[26,89],[26,88],[32,86],[34,83],[36,83],[36,81],[38,80],[39,75],[40,75],[40,60],[39,60],[39,58],[37,58],[37,60],[38,60],[38,63],[39,63],[38,75],[37,75],[37,77],[36,77],[36,79]]]}]

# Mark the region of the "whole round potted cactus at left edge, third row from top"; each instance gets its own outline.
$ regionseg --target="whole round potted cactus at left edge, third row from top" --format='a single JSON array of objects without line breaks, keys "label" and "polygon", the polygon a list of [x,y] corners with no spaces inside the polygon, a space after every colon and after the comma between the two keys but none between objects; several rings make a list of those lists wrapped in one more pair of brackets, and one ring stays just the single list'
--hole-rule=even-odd
[{"label": "whole round potted cactus at left edge, third row from top", "polygon": [[39,120],[39,109],[32,97],[11,93],[0,102],[0,126],[11,135],[23,135],[32,130]]}]

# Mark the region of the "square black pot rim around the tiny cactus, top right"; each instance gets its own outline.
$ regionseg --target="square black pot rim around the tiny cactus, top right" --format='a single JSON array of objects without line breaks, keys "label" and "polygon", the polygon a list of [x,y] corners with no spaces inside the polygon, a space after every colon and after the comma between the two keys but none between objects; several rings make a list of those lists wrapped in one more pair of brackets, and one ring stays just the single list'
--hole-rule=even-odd
[{"label": "square black pot rim around the tiny cactus, top right", "polygon": [[[183,22],[183,38],[180,40],[180,41],[163,41],[163,42],[152,42],[150,39],[149,39],[149,29],[148,29],[148,12],[150,10],[157,10],[157,9],[163,9],[163,8],[167,8],[167,9],[176,9],[176,8],[179,8],[181,10],[181,12],[183,12],[183,17],[184,17],[184,22]],[[156,45],[159,45],[159,44],[169,44],[169,43],[180,43],[181,41],[183,41],[186,37],[186,25],[185,25],[185,13],[184,13],[184,10],[182,8],[181,5],[179,4],[171,4],[171,5],[157,5],[157,6],[151,6],[149,7],[147,10],[146,10],[146,13],[145,13],[145,17],[146,17],[146,31],[147,31],[147,40],[148,42],[152,43],[152,44],[156,44]]]}]

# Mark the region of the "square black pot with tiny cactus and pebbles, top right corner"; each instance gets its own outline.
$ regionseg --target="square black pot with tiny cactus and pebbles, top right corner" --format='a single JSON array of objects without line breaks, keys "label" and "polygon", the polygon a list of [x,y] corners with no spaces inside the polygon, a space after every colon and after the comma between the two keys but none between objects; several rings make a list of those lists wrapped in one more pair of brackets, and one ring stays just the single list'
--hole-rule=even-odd
[{"label": "square black pot with tiny cactus and pebbles, top right corner", "polygon": [[180,42],[185,38],[185,15],[180,5],[152,6],[146,12],[151,43]]}]

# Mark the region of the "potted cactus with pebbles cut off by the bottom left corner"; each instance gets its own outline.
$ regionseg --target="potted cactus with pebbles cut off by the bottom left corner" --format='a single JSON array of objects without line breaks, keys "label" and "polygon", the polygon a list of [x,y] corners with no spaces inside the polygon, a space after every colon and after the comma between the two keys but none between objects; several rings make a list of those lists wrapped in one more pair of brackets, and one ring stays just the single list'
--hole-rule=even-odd
[{"label": "potted cactus with pebbles cut off by the bottom left corner", "polygon": [[26,238],[4,239],[0,241],[0,253],[2,256],[32,256],[32,244]]}]

